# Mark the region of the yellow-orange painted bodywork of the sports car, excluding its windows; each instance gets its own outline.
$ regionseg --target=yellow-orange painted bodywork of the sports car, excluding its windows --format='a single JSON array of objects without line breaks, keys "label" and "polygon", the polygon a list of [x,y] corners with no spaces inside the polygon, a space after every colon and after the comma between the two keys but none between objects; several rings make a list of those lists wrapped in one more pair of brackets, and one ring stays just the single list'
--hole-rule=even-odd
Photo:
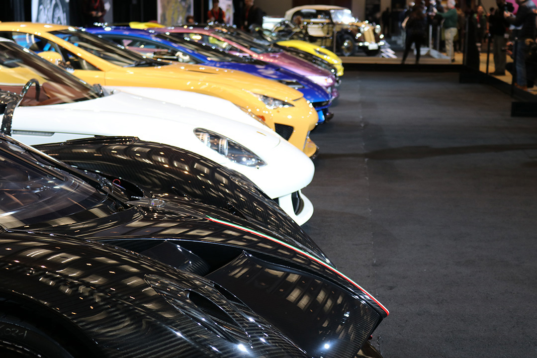
[{"label": "yellow-orange painted bodywork of the sports car, excluding its windows", "polygon": [[[86,69],[75,69],[73,74],[90,84],[164,87],[228,99],[263,118],[272,129],[275,129],[276,124],[292,127],[293,132],[288,141],[300,150],[308,149],[306,152],[308,156],[315,154],[315,150],[312,151],[310,147],[304,147],[304,144],[308,140],[309,131],[315,128],[318,116],[313,106],[303,98],[299,91],[284,84],[248,75],[244,72],[205,65],[162,62],[155,67],[153,65],[121,67],[86,51],[80,46],[50,34],[54,31],[64,31],[69,36],[77,34],[75,28],[60,25],[0,23],[0,35],[8,38],[13,37],[16,42],[20,42],[23,46],[26,43],[26,46],[30,47],[26,37],[18,38],[17,36],[24,33],[33,34],[47,42],[54,43],[54,46],[67,50],[78,59],[77,61],[87,63],[89,67],[86,65]],[[64,61],[69,62],[68,59],[64,59]],[[292,104],[292,106],[270,109],[255,95],[256,93],[280,99]]]}]

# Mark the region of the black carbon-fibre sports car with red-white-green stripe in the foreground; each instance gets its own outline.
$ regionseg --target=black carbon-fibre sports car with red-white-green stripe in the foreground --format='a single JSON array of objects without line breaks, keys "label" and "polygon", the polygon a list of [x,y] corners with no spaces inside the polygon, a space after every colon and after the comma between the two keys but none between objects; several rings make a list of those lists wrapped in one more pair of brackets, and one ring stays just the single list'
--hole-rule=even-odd
[{"label": "black carbon-fibre sports car with red-white-green stripe in the foreground", "polygon": [[[7,133],[18,101],[0,96]],[[115,148],[124,154],[144,153],[148,144],[89,141],[119,141]],[[150,151],[162,163],[158,149]],[[81,171],[0,135],[0,324],[13,333],[0,337],[0,352],[380,357],[367,340],[388,310],[309,237],[149,189]]]}]

